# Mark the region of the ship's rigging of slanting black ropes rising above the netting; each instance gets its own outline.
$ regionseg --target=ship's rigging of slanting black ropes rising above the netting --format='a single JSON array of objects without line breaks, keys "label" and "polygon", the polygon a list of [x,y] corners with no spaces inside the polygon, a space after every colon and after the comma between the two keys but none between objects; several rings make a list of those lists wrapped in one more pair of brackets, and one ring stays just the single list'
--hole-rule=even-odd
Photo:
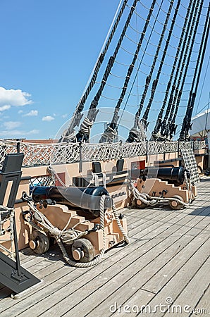
[{"label": "ship's rigging of slanting black ropes rising above the netting", "polygon": [[209,1],[121,0],[60,142],[89,142],[103,107],[113,114],[99,142],[113,142],[125,111],[133,113],[126,142],[189,141],[209,27]]}]

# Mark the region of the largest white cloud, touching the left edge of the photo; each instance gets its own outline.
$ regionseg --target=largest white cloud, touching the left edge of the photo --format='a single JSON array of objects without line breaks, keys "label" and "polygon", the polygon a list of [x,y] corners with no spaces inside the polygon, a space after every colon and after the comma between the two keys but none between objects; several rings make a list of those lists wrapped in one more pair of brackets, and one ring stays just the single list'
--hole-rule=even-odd
[{"label": "largest white cloud, touching the left edge of the photo", "polygon": [[22,92],[20,89],[5,89],[0,87],[0,106],[25,106],[32,104],[31,95],[27,92]]}]

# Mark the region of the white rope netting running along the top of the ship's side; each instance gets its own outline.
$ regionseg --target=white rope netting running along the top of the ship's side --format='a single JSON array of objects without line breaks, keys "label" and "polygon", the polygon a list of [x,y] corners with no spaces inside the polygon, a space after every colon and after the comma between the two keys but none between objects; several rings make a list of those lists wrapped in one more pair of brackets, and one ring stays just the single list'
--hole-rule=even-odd
[{"label": "white rope netting running along the top of the ship's side", "polygon": [[80,161],[107,161],[146,154],[175,153],[181,149],[205,149],[202,142],[133,142],[133,143],[51,143],[37,144],[0,140],[0,168],[6,154],[24,153],[23,166],[44,166]]}]

